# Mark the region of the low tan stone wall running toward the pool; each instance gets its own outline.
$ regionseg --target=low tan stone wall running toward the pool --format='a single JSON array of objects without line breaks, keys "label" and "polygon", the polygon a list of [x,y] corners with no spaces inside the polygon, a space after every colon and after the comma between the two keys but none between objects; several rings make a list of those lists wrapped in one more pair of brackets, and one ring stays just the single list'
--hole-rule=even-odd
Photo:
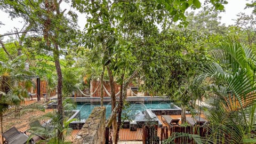
[{"label": "low tan stone wall running toward the pool", "polygon": [[105,143],[106,108],[95,107],[78,132],[75,144],[101,144]]}]

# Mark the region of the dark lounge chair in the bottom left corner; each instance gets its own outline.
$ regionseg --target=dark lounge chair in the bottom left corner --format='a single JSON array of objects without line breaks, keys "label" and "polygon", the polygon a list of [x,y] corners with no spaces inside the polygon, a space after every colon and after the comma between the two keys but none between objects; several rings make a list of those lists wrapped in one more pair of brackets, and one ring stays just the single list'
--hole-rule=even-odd
[{"label": "dark lounge chair in the bottom left corner", "polygon": [[9,144],[34,143],[33,141],[29,140],[28,135],[18,131],[16,127],[12,127],[11,129],[2,133],[2,135],[5,138],[4,143],[9,143]]}]

